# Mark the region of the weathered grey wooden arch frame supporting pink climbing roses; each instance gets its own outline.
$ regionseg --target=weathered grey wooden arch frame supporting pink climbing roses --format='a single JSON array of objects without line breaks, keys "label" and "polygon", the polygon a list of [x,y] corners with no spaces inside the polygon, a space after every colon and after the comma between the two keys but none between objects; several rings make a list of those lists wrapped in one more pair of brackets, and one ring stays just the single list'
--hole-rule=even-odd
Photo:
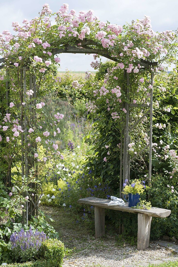
[{"label": "weathered grey wooden arch frame supporting pink climbing roses", "polygon": [[[97,49],[97,44],[92,40],[84,39],[81,42],[81,46],[77,47],[78,42],[81,42],[81,40],[76,41],[76,45],[71,46],[70,44],[66,44],[62,46],[62,48],[59,46],[56,46],[51,50],[52,54],[60,54],[60,53],[82,53],[82,54],[99,54],[103,57],[108,58],[109,60],[120,62],[116,57],[110,56],[108,49]],[[54,47],[54,46],[53,46]],[[15,62],[15,58],[14,58]],[[0,69],[5,68],[6,69],[6,76],[9,75],[10,69],[14,67],[13,62],[11,63],[10,68],[6,67],[6,60],[5,58],[0,59]],[[120,197],[122,197],[122,184],[124,183],[125,179],[130,180],[130,163],[132,160],[136,159],[145,149],[149,148],[149,176],[145,179],[145,181],[148,179],[149,183],[151,181],[151,171],[152,171],[152,113],[153,113],[153,71],[150,70],[151,67],[154,67],[157,65],[157,62],[148,62],[146,60],[140,60],[135,61],[135,63],[140,64],[141,69],[140,70],[149,70],[150,71],[150,83],[152,85],[152,88],[150,88],[150,104],[143,104],[143,103],[137,103],[137,104],[129,104],[129,94],[130,94],[130,73],[127,73],[126,70],[123,70],[123,76],[125,80],[125,86],[123,86],[123,89],[127,96],[127,102],[124,103],[124,107],[127,110],[126,119],[124,122],[124,129],[123,129],[123,136],[124,138],[121,138],[121,145],[120,145]],[[31,125],[34,125],[36,121],[36,111],[34,105],[36,105],[36,96],[37,96],[37,88],[36,88],[36,75],[35,75],[35,68],[34,72],[30,72],[30,66],[31,62],[27,62],[26,65],[24,65],[20,69],[20,88],[21,88],[21,102],[25,102],[26,100],[26,90],[31,89],[33,91],[33,95],[30,96],[31,102],[28,107],[23,106],[21,104],[18,104],[18,107],[21,109],[21,127],[24,132],[21,135],[21,166],[22,166],[22,176],[28,177],[29,170],[31,168],[35,168],[35,162],[37,164],[37,160],[32,157],[29,158],[27,156],[27,151],[24,150],[24,144],[27,143],[27,132],[28,127],[30,128]],[[133,70],[132,70],[133,72]],[[137,74],[135,74],[137,75]],[[7,107],[9,107],[9,83],[8,79],[6,80],[6,103]],[[130,109],[135,107],[141,107],[145,108],[145,113],[142,117],[140,117],[137,121],[134,123],[131,123],[130,121]],[[26,109],[29,109],[30,111],[30,118],[27,118],[26,116]],[[9,113],[9,109],[6,110],[6,113]],[[130,135],[129,132],[131,129],[133,129],[140,121],[144,119],[148,114],[150,114],[150,121],[149,121],[149,144],[147,144],[141,151],[137,153],[133,158],[130,158],[129,150],[128,150],[128,144],[130,143]],[[27,123],[28,120],[28,123]],[[7,176],[5,179],[5,184],[11,185],[11,168],[9,166],[9,169],[7,171]],[[31,187],[33,188],[35,185],[31,183]],[[23,214],[23,223],[27,223],[28,219],[34,215],[38,214],[38,202],[39,199],[36,198],[34,195],[30,202],[26,202],[26,212]]]}]

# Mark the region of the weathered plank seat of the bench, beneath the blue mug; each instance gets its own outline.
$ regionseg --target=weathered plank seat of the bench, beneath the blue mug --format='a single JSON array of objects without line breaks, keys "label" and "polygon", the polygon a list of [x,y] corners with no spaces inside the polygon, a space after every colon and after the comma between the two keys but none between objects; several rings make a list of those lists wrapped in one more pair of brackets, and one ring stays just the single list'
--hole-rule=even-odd
[{"label": "weathered plank seat of the bench, beneath the blue mug", "polygon": [[97,206],[100,208],[105,209],[111,209],[111,210],[120,210],[120,211],[126,211],[131,213],[143,213],[147,214],[152,217],[158,217],[158,218],[166,218],[171,214],[171,210],[151,207],[150,210],[139,210],[139,209],[132,209],[128,207],[128,203],[125,206],[108,206],[108,203],[110,202],[109,199],[103,199],[103,198],[81,198],[78,200],[78,203],[84,203],[91,206]]}]

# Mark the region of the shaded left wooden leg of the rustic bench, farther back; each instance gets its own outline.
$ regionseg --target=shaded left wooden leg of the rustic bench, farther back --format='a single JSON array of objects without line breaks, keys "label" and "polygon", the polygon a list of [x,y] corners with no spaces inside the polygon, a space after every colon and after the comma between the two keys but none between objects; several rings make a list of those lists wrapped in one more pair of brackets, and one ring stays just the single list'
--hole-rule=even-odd
[{"label": "shaded left wooden leg of the rustic bench, farther back", "polygon": [[95,223],[95,237],[98,238],[105,235],[104,208],[94,206],[94,223]]}]

